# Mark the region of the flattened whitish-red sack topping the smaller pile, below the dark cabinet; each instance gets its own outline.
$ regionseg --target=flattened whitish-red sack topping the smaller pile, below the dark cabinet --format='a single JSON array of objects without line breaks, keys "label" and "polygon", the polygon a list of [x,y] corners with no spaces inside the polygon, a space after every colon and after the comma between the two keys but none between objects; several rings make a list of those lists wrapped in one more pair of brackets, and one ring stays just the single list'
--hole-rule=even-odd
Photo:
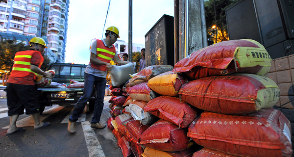
[{"label": "flattened whitish-red sack topping the smaller pile, below the dark cabinet", "polygon": [[136,84],[148,81],[159,74],[172,71],[173,66],[171,65],[151,65],[142,69],[136,76],[129,79],[129,83],[126,86],[134,86]]}]

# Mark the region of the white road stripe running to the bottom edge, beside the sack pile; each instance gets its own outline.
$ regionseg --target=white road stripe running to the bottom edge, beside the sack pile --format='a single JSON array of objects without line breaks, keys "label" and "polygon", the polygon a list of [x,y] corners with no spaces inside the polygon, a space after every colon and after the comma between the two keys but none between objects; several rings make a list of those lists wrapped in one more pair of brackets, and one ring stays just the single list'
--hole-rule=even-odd
[{"label": "white road stripe running to the bottom edge, beside the sack pile", "polygon": [[105,157],[102,147],[97,139],[95,131],[91,128],[90,122],[82,122],[85,140],[89,152],[89,157]]}]

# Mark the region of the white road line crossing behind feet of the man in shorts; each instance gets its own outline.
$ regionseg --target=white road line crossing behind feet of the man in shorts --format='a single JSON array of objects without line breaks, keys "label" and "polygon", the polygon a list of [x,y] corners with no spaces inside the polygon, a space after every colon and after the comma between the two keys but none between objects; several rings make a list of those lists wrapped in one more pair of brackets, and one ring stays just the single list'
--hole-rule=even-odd
[{"label": "white road line crossing behind feet of the man in shorts", "polygon": [[[40,116],[40,121],[43,121],[44,119],[49,117],[51,114],[53,114],[55,112],[58,112],[62,108],[64,108],[64,106],[56,105],[56,106],[54,106],[52,108],[49,108],[49,109],[45,110],[43,112],[43,114]],[[6,113],[6,115],[7,115],[7,113]],[[31,115],[16,122],[17,127],[34,126],[34,124],[35,124],[34,119],[33,119],[33,116],[31,116]],[[2,129],[8,129],[8,128],[9,128],[9,126],[6,126],[6,127],[3,127]]]}]

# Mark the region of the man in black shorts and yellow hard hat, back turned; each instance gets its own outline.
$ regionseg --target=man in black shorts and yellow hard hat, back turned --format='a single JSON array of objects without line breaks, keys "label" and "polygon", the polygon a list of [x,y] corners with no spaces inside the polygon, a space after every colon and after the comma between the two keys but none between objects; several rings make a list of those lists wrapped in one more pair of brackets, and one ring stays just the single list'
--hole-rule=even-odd
[{"label": "man in black shorts and yellow hard hat, back turned", "polygon": [[30,49],[27,51],[16,52],[11,75],[7,80],[7,106],[10,116],[10,125],[6,135],[19,131],[24,128],[17,128],[16,121],[20,114],[31,114],[35,123],[34,129],[44,128],[50,123],[40,121],[39,92],[35,85],[36,74],[46,78],[52,78],[52,74],[40,69],[44,58],[41,52],[46,47],[44,39],[33,37],[29,41]]}]

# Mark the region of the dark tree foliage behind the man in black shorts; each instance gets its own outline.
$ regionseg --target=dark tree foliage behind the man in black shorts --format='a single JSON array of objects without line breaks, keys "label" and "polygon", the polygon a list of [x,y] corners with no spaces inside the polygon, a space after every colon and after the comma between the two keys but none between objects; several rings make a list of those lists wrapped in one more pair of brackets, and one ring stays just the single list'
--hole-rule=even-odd
[{"label": "dark tree foliage behind the man in black shorts", "polygon": [[[15,40],[5,40],[0,41],[0,70],[11,71],[14,55],[16,52],[28,50],[29,46],[25,46],[24,43],[16,43]],[[41,66],[42,70],[46,70],[50,64],[49,58],[42,53],[44,57],[44,62]]]}]

